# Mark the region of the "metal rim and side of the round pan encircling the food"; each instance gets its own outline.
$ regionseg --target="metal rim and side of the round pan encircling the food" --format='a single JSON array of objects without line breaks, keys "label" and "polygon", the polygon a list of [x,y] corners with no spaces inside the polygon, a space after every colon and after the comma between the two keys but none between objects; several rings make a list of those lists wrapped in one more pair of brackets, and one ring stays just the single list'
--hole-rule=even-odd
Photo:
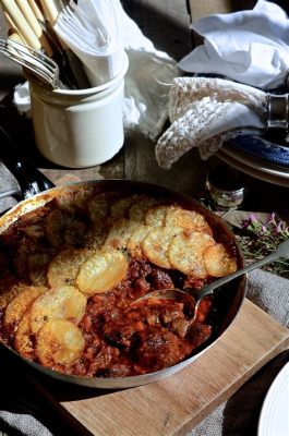
[{"label": "metal rim and side of the round pan encircling the food", "polygon": [[[242,250],[237,241],[236,235],[233,232],[229,229],[229,227],[226,225],[226,222],[216,214],[214,214],[212,210],[209,210],[206,206],[201,204],[198,201],[196,201],[193,197],[190,197],[186,194],[179,193],[177,191],[173,191],[171,189],[168,189],[166,186],[161,186],[159,184],[155,183],[149,183],[149,182],[143,182],[143,181],[134,181],[134,180],[128,180],[128,179],[105,179],[105,180],[89,180],[89,181],[77,181],[77,182],[72,182],[65,185],[61,186],[56,186],[51,187],[47,191],[44,191],[41,193],[35,194],[29,198],[26,198],[22,202],[20,202],[17,205],[13,206],[11,209],[5,211],[1,217],[0,217],[0,234],[5,230],[7,227],[9,227],[12,222],[14,222],[17,217],[21,215],[24,215],[25,213],[37,209],[40,206],[44,206],[47,202],[49,202],[51,198],[57,197],[61,192],[63,191],[70,191],[70,190],[77,190],[79,187],[82,186],[92,186],[94,184],[97,184],[99,186],[106,186],[106,190],[109,187],[112,187],[116,191],[131,191],[133,190],[140,190],[142,193],[147,193],[147,192],[154,192],[156,195],[167,195],[169,196],[170,199],[176,199],[177,202],[184,202],[184,204],[191,204],[191,207],[196,207],[198,210],[202,210],[206,217],[210,217],[213,219],[214,223],[217,226],[220,226],[224,230],[226,230],[226,233],[228,234],[230,241],[233,242],[236,249],[237,249],[237,256],[238,256],[238,263],[239,267],[244,266],[244,256],[242,253]],[[125,190],[127,187],[127,190]],[[101,192],[101,191],[100,191]],[[37,203],[39,202],[39,203]],[[31,208],[29,210],[26,210],[26,206],[31,205],[33,203],[34,207]],[[14,217],[14,218],[13,218]],[[12,220],[10,221],[9,218]],[[53,371],[51,368],[41,366],[40,364],[36,362],[32,362],[21,354],[19,354],[15,350],[12,348],[5,346],[2,343],[2,346],[8,349],[9,351],[12,351],[14,355],[16,355],[19,359],[27,363],[28,365],[35,367],[39,372],[59,379],[64,383],[70,383],[73,385],[80,385],[84,387],[89,387],[89,388],[100,388],[100,389],[118,389],[118,388],[131,388],[131,387],[136,387],[136,386],[142,386],[152,382],[156,382],[158,379],[168,377],[172,374],[176,374],[183,367],[188,366],[191,364],[193,361],[195,361],[200,355],[202,355],[205,351],[210,349],[214,344],[218,342],[218,340],[222,337],[222,335],[228,330],[228,328],[231,327],[233,322],[236,320],[236,317],[238,316],[244,298],[246,293],[246,286],[248,286],[248,276],[244,275],[240,279],[238,279],[238,286],[236,290],[236,294],[241,294],[239,298],[239,302],[237,304],[237,311],[227,324],[225,326],[224,330],[215,338],[213,339],[209,343],[204,344],[195,350],[193,354],[191,354],[189,358],[184,359],[183,361],[169,366],[165,367],[162,370],[153,372],[153,373],[147,373],[147,374],[142,374],[142,375],[136,375],[136,376],[127,376],[127,377],[87,377],[87,376],[75,376],[75,375],[68,375],[63,373],[59,373],[57,371]]]}]

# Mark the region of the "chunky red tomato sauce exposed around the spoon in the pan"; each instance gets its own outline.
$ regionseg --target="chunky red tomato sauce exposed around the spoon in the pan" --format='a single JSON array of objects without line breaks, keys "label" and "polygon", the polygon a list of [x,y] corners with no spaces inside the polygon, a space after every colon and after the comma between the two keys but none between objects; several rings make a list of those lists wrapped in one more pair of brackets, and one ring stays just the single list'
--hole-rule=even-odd
[{"label": "chunky red tomato sauce exposed around the spoon in the pan", "polygon": [[70,374],[146,374],[174,365],[207,340],[212,332],[207,324],[210,303],[201,307],[202,322],[197,319],[184,336],[191,314],[183,303],[155,298],[135,302],[155,289],[174,287],[173,279],[165,270],[133,259],[117,288],[89,298],[80,324],[86,347]]}]

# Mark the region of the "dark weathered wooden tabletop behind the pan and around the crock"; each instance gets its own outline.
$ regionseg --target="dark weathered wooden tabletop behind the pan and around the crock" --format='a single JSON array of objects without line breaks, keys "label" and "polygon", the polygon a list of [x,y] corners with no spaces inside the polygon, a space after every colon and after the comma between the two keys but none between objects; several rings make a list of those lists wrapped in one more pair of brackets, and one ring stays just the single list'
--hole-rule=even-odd
[{"label": "dark weathered wooden tabletop behind the pan and around the crock", "polygon": [[[190,19],[184,1],[128,0],[125,9],[139,23],[145,35],[154,40],[158,49],[167,51],[176,60],[181,59],[190,51]],[[170,32],[164,32],[166,28],[169,28]],[[7,28],[0,14],[0,36],[4,37],[5,33]],[[155,143],[139,132],[131,132],[127,133],[124,146],[120,153],[105,165],[81,170],[57,167],[38,154],[31,120],[20,117],[15,108],[11,106],[13,86],[24,82],[21,69],[13,62],[0,58],[0,99],[7,95],[0,106],[1,125],[21,145],[32,162],[53,181],[68,172],[82,180],[125,178],[158,183],[198,197],[205,189],[207,171],[220,164],[216,157],[206,162],[202,161],[198,152],[194,149],[180,159],[171,170],[162,170],[155,159]],[[249,175],[244,175],[244,183],[248,187],[248,195],[243,209],[277,210],[287,215],[287,206],[284,201],[288,194],[287,187],[266,183]]]}]

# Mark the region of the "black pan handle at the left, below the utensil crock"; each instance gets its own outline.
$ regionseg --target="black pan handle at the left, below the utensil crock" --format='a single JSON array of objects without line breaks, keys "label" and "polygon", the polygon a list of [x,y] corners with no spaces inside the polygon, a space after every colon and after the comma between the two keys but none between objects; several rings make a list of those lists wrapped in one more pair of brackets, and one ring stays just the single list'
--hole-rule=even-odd
[{"label": "black pan handle at the left, below the utensil crock", "polygon": [[19,182],[23,198],[55,187],[55,184],[38,171],[0,126],[0,159]]}]

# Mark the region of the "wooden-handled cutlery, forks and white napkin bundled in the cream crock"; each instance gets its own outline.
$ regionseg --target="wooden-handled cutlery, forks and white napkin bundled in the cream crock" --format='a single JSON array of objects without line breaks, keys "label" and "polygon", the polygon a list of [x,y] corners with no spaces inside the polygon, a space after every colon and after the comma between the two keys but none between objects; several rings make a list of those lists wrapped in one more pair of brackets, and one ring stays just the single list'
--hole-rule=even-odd
[{"label": "wooden-handled cutlery, forks and white napkin bundled in the cream crock", "polygon": [[[71,1],[70,5],[59,0],[0,0],[0,4],[9,25],[1,52],[46,85],[61,88],[62,82],[67,88],[84,89],[107,83],[123,70],[127,56],[119,44],[118,7],[111,0]],[[24,47],[15,48],[14,40]],[[36,66],[25,46],[37,58]],[[47,64],[56,69],[56,63],[61,82],[47,80],[41,62],[45,69]]]}]

